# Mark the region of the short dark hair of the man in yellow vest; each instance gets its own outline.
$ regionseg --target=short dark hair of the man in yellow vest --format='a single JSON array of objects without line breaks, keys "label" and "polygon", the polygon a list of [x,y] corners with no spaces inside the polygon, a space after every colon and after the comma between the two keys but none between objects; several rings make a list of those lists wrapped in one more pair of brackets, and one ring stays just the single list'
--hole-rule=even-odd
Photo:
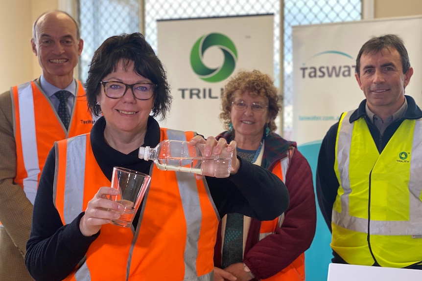
[{"label": "short dark hair of the man in yellow vest", "polygon": [[357,75],[360,75],[360,58],[362,54],[369,54],[372,52],[380,52],[383,49],[394,48],[399,52],[400,58],[401,58],[401,65],[403,68],[403,74],[409,70],[410,67],[410,61],[409,61],[409,55],[407,54],[406,47],[404,46],[403,40],[397,35],[394,34],[387,34],[380,37],[373,37],[370,40],[368,40],[366,43],[363,44],[363,46],[360,48],[359,53],[357,54],[356,58],[356,73]]}]

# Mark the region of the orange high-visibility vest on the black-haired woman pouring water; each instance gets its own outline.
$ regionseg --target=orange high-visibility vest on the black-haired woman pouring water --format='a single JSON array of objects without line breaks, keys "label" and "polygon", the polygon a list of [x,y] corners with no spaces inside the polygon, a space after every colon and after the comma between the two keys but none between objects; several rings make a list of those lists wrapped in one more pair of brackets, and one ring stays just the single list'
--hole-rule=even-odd
[{"label": "orange high-visibility vest on the black-haired woman pouring water", "polygon": [[[161,140],[193,135],[161,129]],[[110,181],[94,158],[90,134],[56,142],[55,149],[55,206],[67,224]],[[73,159],[69,163],[67,155]],[[206,180],[155,165],[150,174],[137,229],[102,225],[85,259],[65,280],[212,281],[219,215]]]}]

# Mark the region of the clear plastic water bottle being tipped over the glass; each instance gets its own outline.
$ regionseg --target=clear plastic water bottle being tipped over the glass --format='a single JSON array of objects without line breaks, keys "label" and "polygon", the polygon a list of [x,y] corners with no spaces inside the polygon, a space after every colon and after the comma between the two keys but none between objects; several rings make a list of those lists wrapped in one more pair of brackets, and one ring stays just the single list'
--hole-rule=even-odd
[{"label": "clear plastic water bottle being tipped over the glass", "polygon": [[164,140],[155,148],[140,147],[138,157],[153,160],[158,169],[228,177],[233,152],[223,149],[220,155],[203,156],[205,144],[189,145],[186,141]]}]

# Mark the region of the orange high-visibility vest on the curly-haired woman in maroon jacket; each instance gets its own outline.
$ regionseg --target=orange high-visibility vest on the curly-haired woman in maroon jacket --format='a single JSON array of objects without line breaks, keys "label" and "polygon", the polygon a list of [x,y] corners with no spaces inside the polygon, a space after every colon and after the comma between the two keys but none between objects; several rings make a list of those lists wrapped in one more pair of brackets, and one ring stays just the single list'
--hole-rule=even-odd
[{"label": "orange high-visibility vest on the curly-haired woman in maroon jacket", "polygon": [[[281,159],[274,168],[272,173],[277,175],[283,182],[285,182],[285,175],[287,173],[289,160],[291,158],[292,150],[289,150],[289,156]],[[259,229],[259,240],[265,238],[270,234],[274,234],[277,227],[282,224],[284,216],[281,215],[273,220],[261,221],[261,228]],[[305,280],[305,253],[302,253],[297,259],[293,260],[287,267],[279,273],[270,278],[262,279],[262,281],[304,281]]]}]

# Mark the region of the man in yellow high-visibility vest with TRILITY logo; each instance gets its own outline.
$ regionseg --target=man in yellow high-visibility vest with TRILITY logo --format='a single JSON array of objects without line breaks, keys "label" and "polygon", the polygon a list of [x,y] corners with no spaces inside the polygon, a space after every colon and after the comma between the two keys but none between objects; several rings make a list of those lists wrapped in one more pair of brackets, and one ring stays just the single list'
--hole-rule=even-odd
[{"label": "man in yellow high-visibility vest with TRILITY logo", "polygon": [[366,100],[328,130],[318,158],[333,262],[422,269],[422,111],[404,95],[412,74],[396,35],[358,53]]}]

